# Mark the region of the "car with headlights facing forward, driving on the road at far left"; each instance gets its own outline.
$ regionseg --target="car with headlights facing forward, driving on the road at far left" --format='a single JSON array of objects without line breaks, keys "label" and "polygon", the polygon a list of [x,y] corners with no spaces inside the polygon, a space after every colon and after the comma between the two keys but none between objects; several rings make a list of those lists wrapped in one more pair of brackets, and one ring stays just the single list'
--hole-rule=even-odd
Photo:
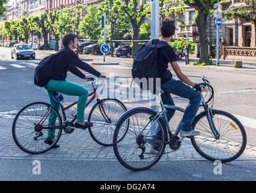
[{"label": "car with headlights facing forward, driving on the road at far left", "polygon": [[11,49],[11,59],[35,59],[36,53],[28,43],[17,43]]}]

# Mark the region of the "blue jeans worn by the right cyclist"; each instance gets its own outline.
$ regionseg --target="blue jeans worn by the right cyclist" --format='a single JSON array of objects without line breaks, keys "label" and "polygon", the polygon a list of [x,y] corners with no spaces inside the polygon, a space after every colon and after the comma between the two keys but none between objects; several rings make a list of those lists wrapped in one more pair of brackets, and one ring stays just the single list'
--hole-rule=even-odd
[{"label": "blue jeans worn by the right cyclist", "polygon": [[[182,118],[181,129],[191,131],[191,125],[194,121],[194,118],[196,117],[196,113],[197,110],[199,109],[201,101],[200,93],[196,92],[187,84],[184,84],[181,80],[174,80],[173,78],[171,78],[171,80],[167,81],[166,83],[162,84],[161,89],[165,91],[161,94],[162,102],[164,104],[174,105],[173,98],[171,98],[170,93],[190,100],[188,106],[185,109],[184,116]],[[165,112],[167,116],[167,121],[169,122],[170,119],[173,117],[175,110],[166,109]],[[161,134],[161,128],[158,127],[156,128],[156,131],[153,134],[153,136],[155,136],[155,139],[161,139],[161,137],[157,137],[161,136]]]}]

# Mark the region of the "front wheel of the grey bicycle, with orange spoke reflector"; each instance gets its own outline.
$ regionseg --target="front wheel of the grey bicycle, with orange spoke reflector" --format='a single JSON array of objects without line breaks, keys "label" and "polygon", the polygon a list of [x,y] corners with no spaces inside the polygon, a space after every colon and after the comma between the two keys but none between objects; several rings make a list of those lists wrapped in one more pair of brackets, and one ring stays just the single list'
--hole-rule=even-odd
[{"label": "front wheel of the grey bicycle, with orange spoke reflector", "polygon": [[213,121],[220,138],[214,138],[206,118],[206,112],[194,119],[192,128],[200,131],[199,136],[191,138],[196,151],[205,159],[222,163],[237,159],[246,147],[246,131],[242,123],[233,115],[222,110],[213,110]]}]

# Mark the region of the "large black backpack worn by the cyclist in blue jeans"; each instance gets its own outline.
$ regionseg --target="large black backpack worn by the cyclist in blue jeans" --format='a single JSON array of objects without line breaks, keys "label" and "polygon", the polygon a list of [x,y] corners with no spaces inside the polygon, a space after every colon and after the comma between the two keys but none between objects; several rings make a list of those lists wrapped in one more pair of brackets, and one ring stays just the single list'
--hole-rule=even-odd
[{"label": "large black backpack worn by the cyclist in blue jeans", "polygon": [[150,40],[136,51],[132,65],[132,78],[142,90],[150,90],[150,92],[156,93],[156,84],[159,83],[156,82],[158,76],[158,48],[165,46],[168,46],[166,42],[154,45]]}]

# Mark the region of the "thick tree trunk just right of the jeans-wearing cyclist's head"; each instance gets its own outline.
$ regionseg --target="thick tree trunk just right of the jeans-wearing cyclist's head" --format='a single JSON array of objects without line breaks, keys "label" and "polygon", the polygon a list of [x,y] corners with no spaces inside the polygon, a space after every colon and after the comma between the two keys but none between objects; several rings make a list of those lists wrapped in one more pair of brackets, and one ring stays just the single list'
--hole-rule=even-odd
[{"label": "thick tree trunk just right of the jeans-wearing cyclist's head", "polygon": [[199,34],[200,42],[200,59],[199,64],[206,63],[209,64],[208,56],[208,44],[205,41],[206,37],[206,16],[202,12],[199,13],[199,16],[196,19],[197,33]]}]

